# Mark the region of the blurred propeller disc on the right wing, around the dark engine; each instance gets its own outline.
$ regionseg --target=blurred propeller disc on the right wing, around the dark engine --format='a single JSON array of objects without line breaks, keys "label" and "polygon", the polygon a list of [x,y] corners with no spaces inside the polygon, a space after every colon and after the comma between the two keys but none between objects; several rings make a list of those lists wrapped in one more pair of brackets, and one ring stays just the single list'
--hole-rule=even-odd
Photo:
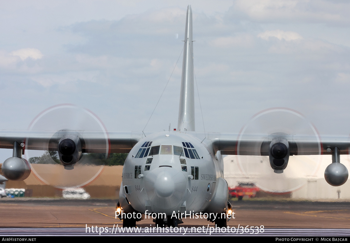
[{"label": "blurred propeller disc on the right wing, around the dark engine", "polygon": [[[289,156],[287,168],[281,174],[273,172],[268,156],[261,156],[260,152],[254,155],[240,155],[240,141],[257,134],[260,140],[267,140],[269,134],[308,134],[315,141],[315,149],[321,154],[321,138],[313,124],[299,112],[288,108],[271,108],[255,114],[252,119],[242,127],[238,136],[237,164],[244,178],[254,182],[259,188],[272,193],[289,193],[299,190],[308,180],[315,179],[321,165],[321,156],[298,155]],[[259,137],[260,136],[260,137]],[[261,143],[254,145],[255,151],[260,151]],[[303,146],[297,144],[298,153]],[[306,148],[304,148],[306,149]],[[241,153],[243,154],[243,152]]]}]

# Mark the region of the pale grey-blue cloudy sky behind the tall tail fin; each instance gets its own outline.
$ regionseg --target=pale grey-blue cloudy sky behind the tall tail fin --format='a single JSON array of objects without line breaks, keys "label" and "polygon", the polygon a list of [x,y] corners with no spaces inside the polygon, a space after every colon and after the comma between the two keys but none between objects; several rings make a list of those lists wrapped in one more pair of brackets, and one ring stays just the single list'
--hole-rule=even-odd
[{"label": "pale grey-blue cloudy sky behind the tall tail fin", "polygon": [[[70,103],[108,131],[142,131],[180,56],[191,4],[205,131],[238,133],[254,114],[286,107],[321,135],[350,133],[349,1],[0,4],[1,130],[26,130]],[[145,131],[177,127],[181,67],[182,56]]]}]

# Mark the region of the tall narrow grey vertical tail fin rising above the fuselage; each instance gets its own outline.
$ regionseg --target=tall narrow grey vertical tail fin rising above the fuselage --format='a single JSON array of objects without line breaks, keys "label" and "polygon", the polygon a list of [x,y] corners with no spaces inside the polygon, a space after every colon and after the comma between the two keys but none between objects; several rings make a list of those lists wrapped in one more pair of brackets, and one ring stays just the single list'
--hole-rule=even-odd
[{"label": "tall narrow grey vertical tail fin rising above the fuselage", "polygon": [[193,79],[192,9],[187,7],[182,61],[178,131],[195,131],[195,102]]}]

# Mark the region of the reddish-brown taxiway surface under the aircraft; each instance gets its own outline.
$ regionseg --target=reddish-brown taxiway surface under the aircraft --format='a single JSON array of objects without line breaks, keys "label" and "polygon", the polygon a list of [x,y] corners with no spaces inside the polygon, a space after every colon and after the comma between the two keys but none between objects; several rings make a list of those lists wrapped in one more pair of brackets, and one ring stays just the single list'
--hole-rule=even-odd
[{"label": "reddish-brown taxiway surface under the aircraft", "polygon": [[[0,227],[119,227],[114,200],[8,199],[0,201]],[[350,202],[233,201],[228,225],[265,228],[349,229]],[[206,219],[183,219],[179,227],[214,227]],[[138,227],[154,226],[152,218]]]}]

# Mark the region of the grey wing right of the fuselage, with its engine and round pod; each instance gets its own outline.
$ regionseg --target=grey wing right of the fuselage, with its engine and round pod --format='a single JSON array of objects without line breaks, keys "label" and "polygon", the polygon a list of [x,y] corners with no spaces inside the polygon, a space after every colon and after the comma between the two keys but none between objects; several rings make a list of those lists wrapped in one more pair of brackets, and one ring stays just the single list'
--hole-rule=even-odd
[{"label": "grey wing right of the fuselage, with its engine and round pod", "polygon": [[211,146],[214,153],[221,151],[223,155],[266,155],[275,173],[283,172],[290,155],[330,154],[332,164],[325,169],[325,180],[332,186],[340,186],[349,175],[348,169],[340,163],[340,155],[349,154],[347,136],[208,133],[203,143]]}]

